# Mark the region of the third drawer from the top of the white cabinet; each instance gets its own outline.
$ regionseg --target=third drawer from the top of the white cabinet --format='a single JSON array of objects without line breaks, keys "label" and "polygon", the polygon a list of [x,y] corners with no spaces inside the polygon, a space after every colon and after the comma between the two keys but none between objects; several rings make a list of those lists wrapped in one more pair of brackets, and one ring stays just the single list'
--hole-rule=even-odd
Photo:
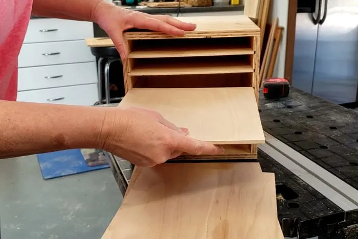
[{"label": "third drawer from the top of the white cabinet", "polygon": [[18,69],[18,91],[97,83],[95,62]]}]

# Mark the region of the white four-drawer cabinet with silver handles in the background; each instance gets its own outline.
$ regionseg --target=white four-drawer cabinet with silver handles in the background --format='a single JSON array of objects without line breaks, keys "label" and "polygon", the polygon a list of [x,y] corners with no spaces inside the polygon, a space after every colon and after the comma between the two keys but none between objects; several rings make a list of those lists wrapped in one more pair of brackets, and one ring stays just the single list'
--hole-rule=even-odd
[{"label": "white four-drawer cabinet with silver handles in the background", "polygon": [[30,20],[18,56],[18,101],[93,105],[96,58],[84,41],[93,24],[57,18]]}]

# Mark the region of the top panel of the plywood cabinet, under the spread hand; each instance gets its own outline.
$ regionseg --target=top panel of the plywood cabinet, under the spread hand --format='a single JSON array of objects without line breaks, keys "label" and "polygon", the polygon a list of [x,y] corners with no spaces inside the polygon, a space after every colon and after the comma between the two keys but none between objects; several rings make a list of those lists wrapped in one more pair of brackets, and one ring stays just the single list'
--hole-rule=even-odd
[{"label": "top panel of the plywood cabinet, under the spread hand", "polygon": [[[192,16],[175,17],[186,23],[196,24],[194,31],[188,31],[184,38],[200,37],[237,37],[260,35],[260,28],[245,15],[237,16]],[[161,32],[130,29],[124,33],[126,39],[178,38]]]}]

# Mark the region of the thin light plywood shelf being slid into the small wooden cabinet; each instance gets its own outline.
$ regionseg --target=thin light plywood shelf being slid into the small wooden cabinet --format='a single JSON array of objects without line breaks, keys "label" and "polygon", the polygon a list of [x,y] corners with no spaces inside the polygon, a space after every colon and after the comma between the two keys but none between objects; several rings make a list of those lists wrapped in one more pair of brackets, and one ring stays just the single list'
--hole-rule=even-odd
[{"label": "thin light plywood shelf being slid into the small wooden cabinet", "polygon": [[161,113],[189,136],[214,144],[264,143],[253,88],[133,88],[120,106]]}]

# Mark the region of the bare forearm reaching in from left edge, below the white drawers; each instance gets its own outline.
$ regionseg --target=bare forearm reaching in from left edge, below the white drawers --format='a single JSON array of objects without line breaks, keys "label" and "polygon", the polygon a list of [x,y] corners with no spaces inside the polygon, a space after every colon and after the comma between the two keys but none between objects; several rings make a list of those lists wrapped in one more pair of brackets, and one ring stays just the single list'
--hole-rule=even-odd
[{"label": "bare forearm reaching in from left edge, below the white drawers", "polygon": [[0,100],[0,109],[0,158],[103,144],[106,108]]}]

